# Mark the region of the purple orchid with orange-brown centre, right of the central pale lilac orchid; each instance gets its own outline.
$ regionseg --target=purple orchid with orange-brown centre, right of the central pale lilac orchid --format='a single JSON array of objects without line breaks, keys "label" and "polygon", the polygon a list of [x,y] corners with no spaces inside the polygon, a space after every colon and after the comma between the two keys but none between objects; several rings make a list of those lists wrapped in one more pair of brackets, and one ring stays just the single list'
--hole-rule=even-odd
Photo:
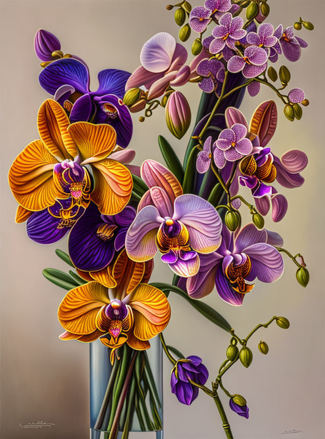
[{"label": "purple orchid with orange-brown centre, right of the central pale lilac orchid", "polygon": [[201,255],[198,274],[186,281],[189,296],[204,297],[215,285],[222,300],[234,306],[242,305],[245,295],[254,287],[248,283],[255,278],[272,283],[281,277],[283,259],[273,245],[283,245],[275,232],[257,230],[253,224],[247,224],[236,235],[223,226],[217,252]]}]

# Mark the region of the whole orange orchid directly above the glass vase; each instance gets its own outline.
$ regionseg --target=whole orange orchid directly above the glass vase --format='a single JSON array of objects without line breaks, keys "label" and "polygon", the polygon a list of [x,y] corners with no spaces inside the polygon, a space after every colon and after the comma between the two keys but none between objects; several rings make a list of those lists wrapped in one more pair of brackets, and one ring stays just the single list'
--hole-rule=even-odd
[{"label": "whole orange orchid directly above the glass vase", "polygon": [[165,294],[146,284],[152,267],[151,262],[131,261],[123,250],[112,270],[105,268],[96,280],[69,291],[58,309],[66,330],[60,338],[83,342],[99,338],[112,349],[112,363],[116,349],[125,342],[135,350],[148,349],[148,340],[165,329],[171,315]]}]

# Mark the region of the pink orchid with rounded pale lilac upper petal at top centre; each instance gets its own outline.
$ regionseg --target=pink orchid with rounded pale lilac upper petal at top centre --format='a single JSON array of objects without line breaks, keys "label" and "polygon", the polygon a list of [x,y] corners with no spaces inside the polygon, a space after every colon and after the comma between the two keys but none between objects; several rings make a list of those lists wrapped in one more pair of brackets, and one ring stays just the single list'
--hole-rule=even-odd
[{"label": "pink orchid with rounded pale lilac upper petal at top centre", "polygon": [[141,66],[128,78],[125,90],[144,86],[150,100],[162,96],[169,85],[186,84],[191,74],[189,66],[185,65],[186,59],[185,47],[176,43],[167,32],[159,32],[143,45]]}]

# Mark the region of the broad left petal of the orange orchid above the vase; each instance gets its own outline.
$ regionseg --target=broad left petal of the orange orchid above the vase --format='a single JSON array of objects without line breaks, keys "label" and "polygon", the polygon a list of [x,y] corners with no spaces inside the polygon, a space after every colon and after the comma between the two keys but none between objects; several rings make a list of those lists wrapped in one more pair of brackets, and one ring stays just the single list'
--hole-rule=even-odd
[{"label": "broad left petal of the orange orchid above the vase", "polygon": [[60,324],[78,335],[90,334],[96,329],[96,315],[102,306],[109,304],[108,292],[98,282],[89,282],[70,290],[58,309]]}]

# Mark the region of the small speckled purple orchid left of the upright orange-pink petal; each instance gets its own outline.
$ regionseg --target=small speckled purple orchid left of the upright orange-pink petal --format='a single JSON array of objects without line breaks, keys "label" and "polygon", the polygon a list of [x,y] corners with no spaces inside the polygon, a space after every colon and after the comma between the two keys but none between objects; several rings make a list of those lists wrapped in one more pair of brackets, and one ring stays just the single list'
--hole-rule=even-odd
[{"label": "small speckled purple orchid left of the upright orange-pink petal", "polygon": [[213,154],[219,169],[224,168],[227,161],[236,162],[252,152],[252,142],[246,136],[247,128],[241,123],[235,123],[231,128],[221,131]]}]

